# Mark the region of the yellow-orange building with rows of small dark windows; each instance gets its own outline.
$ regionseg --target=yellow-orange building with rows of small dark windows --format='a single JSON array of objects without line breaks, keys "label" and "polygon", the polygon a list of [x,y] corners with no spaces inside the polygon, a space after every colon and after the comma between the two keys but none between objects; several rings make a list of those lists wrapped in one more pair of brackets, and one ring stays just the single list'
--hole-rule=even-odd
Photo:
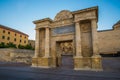
[{"label": "yellow-orange building with rows of small dark windows", "polygon": [[0,25],[0,43],[13,43],[16,44],[16,46],[18,45],[27,45],[28,44],[28,35],[12,29],[10,27],[4,26],[4,25]]}]

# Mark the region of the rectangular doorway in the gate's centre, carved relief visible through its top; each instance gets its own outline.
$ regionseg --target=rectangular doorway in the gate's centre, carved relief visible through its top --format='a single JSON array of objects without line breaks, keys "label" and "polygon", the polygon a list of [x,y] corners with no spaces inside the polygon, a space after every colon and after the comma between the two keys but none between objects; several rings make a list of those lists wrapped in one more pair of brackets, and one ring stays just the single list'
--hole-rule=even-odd
[{"label": "rectangular doorway in the gate's centre, carved relief visible through its top", "polygon": [[61,69],[73,69],[73,41],[59,41],[56,49],[56,65]]}]

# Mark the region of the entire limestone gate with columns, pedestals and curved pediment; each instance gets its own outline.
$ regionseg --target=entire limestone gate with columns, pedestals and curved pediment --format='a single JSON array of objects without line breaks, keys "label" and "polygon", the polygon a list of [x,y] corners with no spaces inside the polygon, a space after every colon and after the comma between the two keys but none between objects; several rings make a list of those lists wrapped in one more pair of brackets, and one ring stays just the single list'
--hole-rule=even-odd
[{"label": "entire limestone gate with columns, pedestals and curved pediment", "polygon": [[98,7],[63,10],[54,20],[34,21],[36,41],[32,66],[59,67],[62,55],[72,55],[75,70],[102,70],[97,22]]}]

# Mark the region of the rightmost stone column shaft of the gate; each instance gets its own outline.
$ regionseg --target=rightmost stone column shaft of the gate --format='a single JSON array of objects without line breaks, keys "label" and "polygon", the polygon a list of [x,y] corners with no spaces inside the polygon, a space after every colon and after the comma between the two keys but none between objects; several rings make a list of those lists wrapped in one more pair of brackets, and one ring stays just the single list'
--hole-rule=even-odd
[{"label": "rightmost stone column shaft of the gate", "polygon": [[93,56],[96,56],[99,55],[96,19],[91,20],[91,27],[92,27]]}]

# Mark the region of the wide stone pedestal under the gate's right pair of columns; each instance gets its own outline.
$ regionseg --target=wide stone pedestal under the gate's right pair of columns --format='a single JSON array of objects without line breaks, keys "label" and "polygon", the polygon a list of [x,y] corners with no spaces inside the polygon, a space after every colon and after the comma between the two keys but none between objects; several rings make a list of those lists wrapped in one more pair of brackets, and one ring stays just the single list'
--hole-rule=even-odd
[{"label": "wide stone pedestal under the gate's right pair of columns", "polygon": [[101,57],[74,57],[74,70],[102,71]]}]

